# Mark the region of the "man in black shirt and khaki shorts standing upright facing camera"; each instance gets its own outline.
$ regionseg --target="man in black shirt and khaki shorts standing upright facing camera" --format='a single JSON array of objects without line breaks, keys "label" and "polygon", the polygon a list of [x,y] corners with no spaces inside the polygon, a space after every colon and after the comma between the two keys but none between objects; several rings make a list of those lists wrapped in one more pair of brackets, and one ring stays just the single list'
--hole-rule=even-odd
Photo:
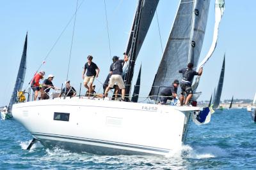
[{"label": "man in black shirt and khaki shorts standing upright facing camera", "polygon": [[[89,96],[92,93],[92,83],[94,81],[94,78],[99,76],[100,69],[99,67],[92,62],[92,55],[88,55],[87,57],[88,62],[84,64],[84,70],[82,73],[82,78],[84,80],[84,87],[89,91]],[[87,70],[87,71],[86,71]],[[86,76],[84,76],[84,73],[86,72]],[[89,83],[89,87],[88,87]]]}]

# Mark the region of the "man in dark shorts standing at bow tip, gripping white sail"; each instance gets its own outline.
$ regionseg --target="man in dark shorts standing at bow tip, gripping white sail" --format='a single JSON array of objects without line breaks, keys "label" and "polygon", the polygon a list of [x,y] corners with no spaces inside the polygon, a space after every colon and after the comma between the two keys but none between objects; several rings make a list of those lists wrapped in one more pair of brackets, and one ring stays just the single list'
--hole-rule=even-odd
[{"label": "man in dark shorts standing at bow tip, gripping white sail", "polygon": [[182,80],[180,82],[181,96],[180,96],[180,106],[184,103],[184,94],[187,94],[185,105],[188,105],[189,100],[193,96],[193,91],[191,88],[191,83],[195,75],[201,76],[203,73],[203,67],[200,67],[199,71],[193,70],[194,64],[189,62],[188,67],[180,69],[179,73],[182,73]]}]

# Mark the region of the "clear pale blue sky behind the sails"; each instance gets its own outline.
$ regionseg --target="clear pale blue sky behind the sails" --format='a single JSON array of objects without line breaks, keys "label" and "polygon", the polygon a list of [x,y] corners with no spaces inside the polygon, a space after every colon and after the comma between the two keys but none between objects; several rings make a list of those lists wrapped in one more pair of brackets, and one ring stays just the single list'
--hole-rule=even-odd
[{"label": "clear pale blue sky behind the sails", "polygon": [[[24,89],[28,87],[36,70],[44,62],[47,53],[74,15],[76,3],[77,1],[68,0],[0,1],[0,89],[2,90],[0,106],[8,105],[12,96],[26,32],[28,31],[28,53]],[[71,55],[74,18],[52,48],[40,70],[44,70],[46,76],[54,74],[53,83],[56,87],[61,87],[68,74],[71,85],[79,91],[80,83],[83,82],[82,71],[86,57],[89,54],[93,55],[93,62],[100,68],[99,78],[95,80],[96,90],[102,92],[101,83],[109,72],[111,57],[113,55],[122,57],[126,49],[137,1],[106,0],[111,54],[104,0],[79,0],[78,4],[81,4],[81,8],[77,11]],[[211,59],[204,66],[198,87],[198,91],[202,92],[199,101],[209,100],[214,87],[217,87],[224,53],[226,53],[226,66],[221,100],[231,99],[232,96],[235,99],[252,99],[256,92],[256,1],[242,3],[238,0],[226,0],[225,5],[218,44]],[[155,15],[136,61],[134,78],[137,77],[142,64],[140,97],[148,96],[163,56],[161,42],[165,48],[178,6],[179,0],[159,1],[157,6],[159,28]],[[211,0],[199,62],[204,59],[211,46],[213,28],[214,0]],[[133,83],[135,81],[136,79]],[[81,89],[81,94],[84,94],[83,85]]]}]

